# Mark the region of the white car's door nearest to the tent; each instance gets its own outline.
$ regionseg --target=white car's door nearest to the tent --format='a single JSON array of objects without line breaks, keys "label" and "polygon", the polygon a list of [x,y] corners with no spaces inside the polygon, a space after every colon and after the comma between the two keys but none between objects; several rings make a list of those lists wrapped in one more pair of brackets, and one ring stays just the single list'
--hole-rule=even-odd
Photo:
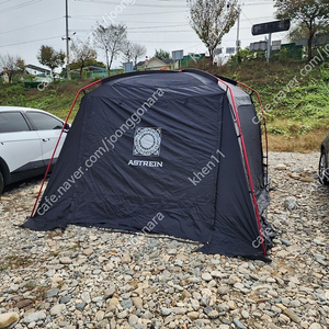
[{"label": "white car's door nearest to the tent", "polygon": [[[43,112],[27,111],[25,115],[32,122],[37,135],[39,136],[43,160],[47,166],[54,152],[64,123],[57,117]],[[53,163],[55,163],[58,158],[65,137],[66,132],[61,135]]]}]

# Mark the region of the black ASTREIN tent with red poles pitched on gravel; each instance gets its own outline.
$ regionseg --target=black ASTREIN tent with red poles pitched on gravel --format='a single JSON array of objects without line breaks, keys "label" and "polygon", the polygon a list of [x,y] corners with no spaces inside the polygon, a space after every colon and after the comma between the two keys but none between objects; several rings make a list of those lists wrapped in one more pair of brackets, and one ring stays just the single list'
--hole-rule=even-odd
[{"label": "black ASTREIN tent with red poles pitched on gravel", "polygon": [[261,124],[249,93],[197,71],[110,77],[88,92],[23,224],[157,232],[266,259]]}]

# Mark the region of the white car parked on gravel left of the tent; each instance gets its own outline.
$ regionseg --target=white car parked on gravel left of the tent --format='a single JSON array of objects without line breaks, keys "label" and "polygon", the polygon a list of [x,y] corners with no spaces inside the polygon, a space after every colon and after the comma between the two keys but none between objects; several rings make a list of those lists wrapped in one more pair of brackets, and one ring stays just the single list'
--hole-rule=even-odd
[{"label": "white car parked on gravel left of the tent", "polygon": [[64,121],[42,110],[0,106],[0,193],[8,184],[45,173],[63,126]]}]

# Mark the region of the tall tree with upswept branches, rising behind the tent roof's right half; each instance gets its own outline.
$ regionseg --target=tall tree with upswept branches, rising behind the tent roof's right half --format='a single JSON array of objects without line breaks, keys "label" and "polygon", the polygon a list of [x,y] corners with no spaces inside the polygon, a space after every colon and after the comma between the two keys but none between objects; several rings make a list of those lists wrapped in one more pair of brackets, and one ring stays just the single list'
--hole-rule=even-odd
[{"label": "tall tree with upswept branches, rising behind the tent roof's right half", "polygon": [[234,26],[239,15],[238,0],[186,0],[190,24],[214,58],[215,48]]}]

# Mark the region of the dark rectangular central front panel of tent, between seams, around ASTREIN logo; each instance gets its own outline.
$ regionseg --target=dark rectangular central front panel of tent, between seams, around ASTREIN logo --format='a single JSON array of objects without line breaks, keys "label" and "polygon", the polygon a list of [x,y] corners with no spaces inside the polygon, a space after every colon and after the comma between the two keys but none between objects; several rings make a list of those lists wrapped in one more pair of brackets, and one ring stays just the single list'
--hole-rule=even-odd
[{"label": "dark rectangular central front panel of tent, between seams, around ASTREIN logo", "polygon": [[[75,197],[78,202],[69,223],[138,231],[161,213],[164,219],[152,231],[208,240],[218,169],[215,166],[202,183],[193,172],[197,174],[218,149],[223,100],[223,93],[180,100],[167,99],[164,94],[134,129],[126,131],[112,146],[109,144],[110,151],[79,180],[75,186],[79,197]],[[83,168],[94,150],[102,147],[100,136],[110,140],[138,106],[140,101],[117,103],[94,97],[83,100],[81,110],[86,122],[92,124],[83,132],[79,167]],[[140,128],[160,129],[159,155],[134,155],[136,129]]]}]

